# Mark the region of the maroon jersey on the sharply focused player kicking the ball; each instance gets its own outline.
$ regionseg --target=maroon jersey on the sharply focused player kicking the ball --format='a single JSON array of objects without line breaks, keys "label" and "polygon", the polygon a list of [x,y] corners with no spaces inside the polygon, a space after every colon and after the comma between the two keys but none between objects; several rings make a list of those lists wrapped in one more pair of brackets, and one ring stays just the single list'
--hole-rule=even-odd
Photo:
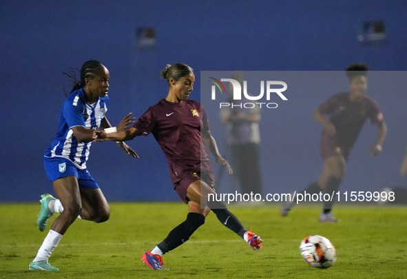
[{"label": "maroon jersey on the sharply focused player kicking the ball", "polygon": [[209,121],[200,103],[191,100],[170,103],[162,99],[149,107],[133,127],[146,136],[150,132],[154,135],[167,157],[172,183],[201,169],[214,180],[201,134],[201,129],[209,130]]}]

